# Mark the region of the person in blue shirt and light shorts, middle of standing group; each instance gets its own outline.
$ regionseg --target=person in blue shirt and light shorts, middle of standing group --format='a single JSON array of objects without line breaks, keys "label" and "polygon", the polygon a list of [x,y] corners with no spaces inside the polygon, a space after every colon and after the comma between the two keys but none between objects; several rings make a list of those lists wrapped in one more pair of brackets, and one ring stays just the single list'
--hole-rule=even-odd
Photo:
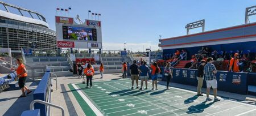
[{"label": "person in blue shirt and light shorts, middle of standing group", "polygon": [[143,61],[143,65],[141,65],[139,67],[139,72],[140,72],[139,78],[141,79],[141,88],[139,90],[142,90],[143,81],[145,81],[145,84],[146,84],[146,88],[145,89],[147,89],[147,79],[148,79],[148,72],[149,72],[149,68],[147,66],[147,62]]}]

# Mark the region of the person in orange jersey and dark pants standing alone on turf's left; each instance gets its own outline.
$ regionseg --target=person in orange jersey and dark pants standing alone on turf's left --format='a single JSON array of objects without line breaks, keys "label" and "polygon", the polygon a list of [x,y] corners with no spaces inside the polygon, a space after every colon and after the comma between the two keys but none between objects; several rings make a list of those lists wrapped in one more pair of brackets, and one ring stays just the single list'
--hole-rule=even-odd
[{"label": "person in orange jersey and dark pants standing alone on turf's left", "polygon": [[94,69],[90,63],[88,63],[87,67],[84,70],[84,74],[86,75],[86,88],[88,88],[89,80],[90,80],[90,88],[92,88],[92,78],[94,75]]}]

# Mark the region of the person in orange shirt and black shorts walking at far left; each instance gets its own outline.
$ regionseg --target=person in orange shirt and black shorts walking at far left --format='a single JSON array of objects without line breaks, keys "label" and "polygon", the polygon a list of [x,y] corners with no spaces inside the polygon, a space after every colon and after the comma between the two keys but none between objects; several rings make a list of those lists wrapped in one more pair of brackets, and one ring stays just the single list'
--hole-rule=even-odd
[{"label": "person in orange shirt and black shorts walking at far left", "polygon": [[25,91],[27,91],[27,95],[30,94],[32,91],[26,87],[26,79],[27,79],[27,70],[26,67],[23,65],[22,59],[16,59],[16,63],[18,64],[18,68],[11,68],[11,70],[15,70],[17,72],[19,81],[19,88],[22,91],[22,95],[19,97],[26,97]]}]

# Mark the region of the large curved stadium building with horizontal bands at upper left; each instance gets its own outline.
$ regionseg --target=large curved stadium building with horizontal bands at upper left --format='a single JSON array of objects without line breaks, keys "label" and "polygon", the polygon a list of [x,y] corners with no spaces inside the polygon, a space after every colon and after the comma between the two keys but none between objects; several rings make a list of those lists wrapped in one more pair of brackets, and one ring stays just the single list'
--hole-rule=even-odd
[{"label": "large curved stadium building with horizontal bands at upper left", "polygon": [[56,50],[56,33],[38,12],[0,1],[0,48]]}]

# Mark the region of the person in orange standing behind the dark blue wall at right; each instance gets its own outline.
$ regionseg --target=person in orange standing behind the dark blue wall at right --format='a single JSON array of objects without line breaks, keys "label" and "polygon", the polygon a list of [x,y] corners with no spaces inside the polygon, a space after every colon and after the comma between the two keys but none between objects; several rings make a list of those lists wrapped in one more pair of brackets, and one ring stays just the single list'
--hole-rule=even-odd
[{"label": "person in orange standing behind the dark blue wall at right", "polygon": [[239,72],[239,54],[238,53],[235,53],[234,54],[234,58],[230,59],[229,71],[231,71],[231,72]]}]

